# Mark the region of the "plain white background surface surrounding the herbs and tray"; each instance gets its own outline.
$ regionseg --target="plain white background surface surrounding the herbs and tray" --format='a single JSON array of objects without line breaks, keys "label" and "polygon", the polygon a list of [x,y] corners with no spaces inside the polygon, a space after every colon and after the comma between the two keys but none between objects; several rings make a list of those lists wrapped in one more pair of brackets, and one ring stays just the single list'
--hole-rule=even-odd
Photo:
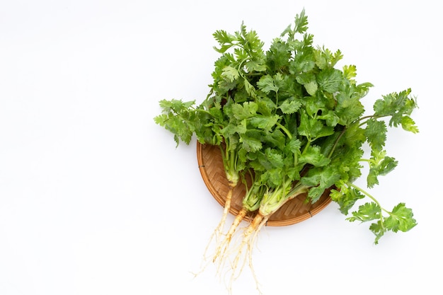
[{"label": "plain white background surface surrounding the herbs and tray", "polygon": [[[340,49],[382,94],[412,88],[419,134],[393,129],[399,165],[372,192],[418,226],[379,245],[330,204],[265,228],[253,253],[264,294],[442,294],[438,1],[1,1],[0,294],[227,294],[193,278],[222,208],[154,124],[163,98],[201,101],[215,30],[241,21],[268,46],[306,9],[316,45]],[[231,220],[231,219],[230,219]],[[233,294],[255,294],[246,267]]]}]

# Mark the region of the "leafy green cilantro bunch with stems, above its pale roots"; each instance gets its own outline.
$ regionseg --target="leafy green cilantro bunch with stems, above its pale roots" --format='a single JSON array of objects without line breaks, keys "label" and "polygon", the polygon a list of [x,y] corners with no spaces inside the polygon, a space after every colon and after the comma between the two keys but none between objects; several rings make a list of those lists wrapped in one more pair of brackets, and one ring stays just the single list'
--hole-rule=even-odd
[{"label": "leafy green cilantro bunch with stems, above its pale roots", "polygon": [[[207,98],[200,105],[161,100],[155,122],[173,132],[177,144],[189,144],[195,134],[202,144],[219,145],[233,186],[246,173],[254,176],[244,202],[253,199],[246,210],[262,216],[254,230],[288,199],[307,192],[307,201],[316,202],[331,187],[347,220],[372,223],[374,243],[387,231],[413,229],[417,222],[404,203],[385,209],[355,185],[366,165],[368,189],[396,168],[385,149],[388,127],[418,132],[410,117],[418,107],[411,90],[382,96],[372,115],[364,115],[362,98],[372,83],[357,83],[354,65],[338,69],[342,52],[314,47],[307,29],[302,11],[266,51],[244,23],[233,34],[217,30],[214,49],[221,56]],[[350,212],[360,199],[368,202]]]}]

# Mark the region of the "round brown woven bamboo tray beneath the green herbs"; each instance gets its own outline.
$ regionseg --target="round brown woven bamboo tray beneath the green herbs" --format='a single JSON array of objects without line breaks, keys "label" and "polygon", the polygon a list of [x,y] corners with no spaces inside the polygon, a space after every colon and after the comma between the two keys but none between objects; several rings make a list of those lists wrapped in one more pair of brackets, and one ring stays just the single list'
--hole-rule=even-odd
[{"label": "round brown woven bamboo tray beneath the green herbs", "polygon": [[[224,206],[229,184],[224,173],[222,154],[219,146],[200,144],[197,142],[197,162],[209,192],[211,192],[214,199],[216,199],[220,205]],[[240,183],[234,188],[231,209],[229,210],[231,214],[236,215],[238,211],[241,210],[241,200],[245,192],[246,189],[243,183]],[[267,226],[297,224],[311,218],[331,202],[329,191],[326,191],[314,204],[310,202],[306,203],[305,199],[306,195],[300,195],[284,204],[277,212],[270,216],[270,219],[267,221]],[[245,219],[251,220],[253,215],[254,213],[251,213],[246,216]]]}]

